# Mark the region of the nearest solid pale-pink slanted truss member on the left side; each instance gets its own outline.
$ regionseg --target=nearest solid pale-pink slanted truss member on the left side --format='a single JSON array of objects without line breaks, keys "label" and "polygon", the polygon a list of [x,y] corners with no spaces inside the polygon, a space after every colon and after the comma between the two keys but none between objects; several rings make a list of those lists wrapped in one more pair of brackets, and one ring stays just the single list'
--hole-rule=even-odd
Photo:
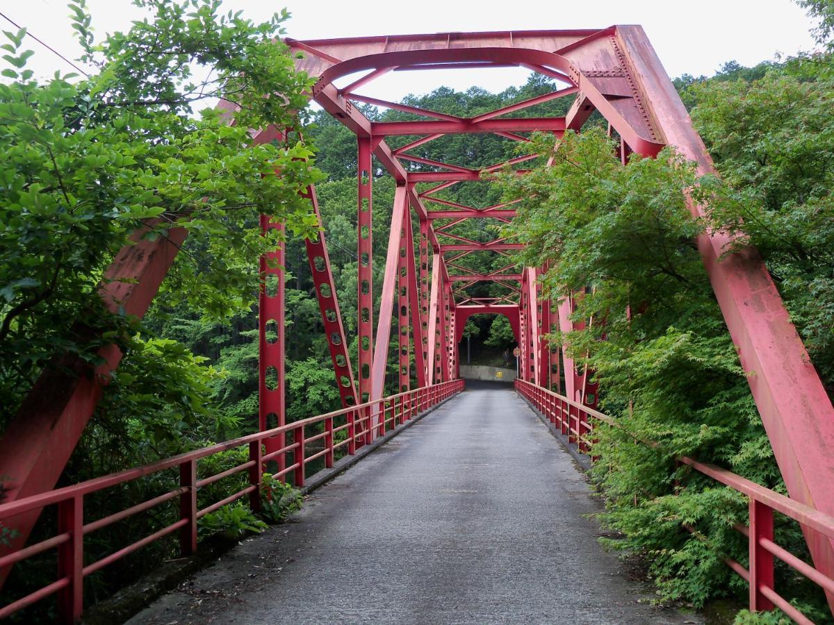
[{"label": "nearest solid pale-pink slanted truss member on the left side", "polygon": [[[388,253],[385,257],[385,275],[382,283],[382,297],[379,300],[379,323],[374,345],[374,363],[371,373],[370,399],[377,400],[384,395],[385,369],[388,368],[388,348],[391,338],[391,317],[394,313],[394,295],[398,283],[400,246],[404,238],[404,218],[408,215],[408,203],[404,185],[398,185],[394,192],[394,209],[391,211],[391,228],[388,238]],[[399,311],[398,311],[399,318]]]}]

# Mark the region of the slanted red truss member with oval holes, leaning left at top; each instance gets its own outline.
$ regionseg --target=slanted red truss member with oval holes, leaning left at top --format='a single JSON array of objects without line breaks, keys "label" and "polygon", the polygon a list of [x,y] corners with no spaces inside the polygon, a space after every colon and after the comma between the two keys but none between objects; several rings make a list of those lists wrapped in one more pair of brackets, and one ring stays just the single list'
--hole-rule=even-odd
[{"label": "slanted red truss member with oval holes, leaning left at top", "polygon": [[[313,204],[316,219],[321,221],[319,213],[319,202],[316,199],[315,188],[308,187],[304,193]],[[307,260],[309,261],[310,274],[313,276],[316,299],[319,301],[321,323],[324,326],[324,336],[330,349],[330,360],[333,362],[333,370],[336,375],[336,386],[339,387],[339,396],[342,399],[342,408],[356,405],[356,385],[354,372],[348,358],[348,343],[344,335],[344,324],[342,313],[339,310],[339,300],[336,297],[336,285],[333,281],[333,271],[330,268],[330,257],[327,251],[327,242],[324,238],[324,228],[319,231],[319,237],[315,240],[307,239],[304,244],[307,247]]]}]

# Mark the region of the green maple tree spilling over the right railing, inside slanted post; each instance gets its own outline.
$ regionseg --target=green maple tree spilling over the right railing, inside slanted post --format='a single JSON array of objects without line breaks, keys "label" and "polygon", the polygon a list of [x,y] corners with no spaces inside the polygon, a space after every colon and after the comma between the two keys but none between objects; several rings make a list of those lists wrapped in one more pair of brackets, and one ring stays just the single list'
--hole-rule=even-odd
[{"label": "green maple tree spilling over the right railing, inside slanted post", "polygon": [[[620,425],[595,429],[601,519],[623,536],[605,542],[646,557],[661,597],[701,606],[746,595],[721,561],[746,561],[746,542],[732,528],[746,517],[746,500],[675,458],[716,463],[784,492],[693,242],[707,222],[686,208],[688,190],[716,219],[735,195],[715,178],[696,178],[694,165],[670,148],[655,159],[632,157],[627,167],[613,148],[597,129],[566,133],[555,146],[536,139],[530,149],[554,162],[505,177],[508,197],[521,199],[508,232],[528,244],[520,253],[526,265],[550,263],[545,294],[583,293],[575,319],[605,319],[552,337],[596,372],[602,406]],[[781,521],[776,532],[780,544],[806,553],[796,524]],[[824,605],[785,567],[777,576],[788,596]]]}]

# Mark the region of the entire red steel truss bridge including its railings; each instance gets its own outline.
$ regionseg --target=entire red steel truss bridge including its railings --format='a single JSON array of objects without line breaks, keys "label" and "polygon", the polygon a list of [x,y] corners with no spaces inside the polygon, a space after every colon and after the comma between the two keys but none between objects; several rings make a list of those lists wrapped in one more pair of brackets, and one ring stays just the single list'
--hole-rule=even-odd
[{"label": "entire red steel truss bridge including its railings", "polygon": [[[274,461],[279,478],[291,475],[294,483],[303,487],[317,479],[308,474],[309,463],[314,460],[323,459],[322,472],[332,472],[440,403],[446,402],[445,407],[432,417],[434,421],[426,422],[425,428],[430,423],[441,423],[441,412],[446,418],[453,417],[464,397],[458,396],[464,391],[459,379],[458,344],[466,320],[473,314],[495,313],[509,318],[520,347],[520,377],[515,390],[578,453],[588,452],[595,423],[616,425],[614,419],[596,410],[600,389],[592,373],[578,370],[560,346],[541,338],[557,328],[566,331],[573,327],[571,298],[558,302],[543,299],[536,280],[541,268],[519,268],[510,257],[520,244],[510,238],[485,242],[452,232],[456,224],[466,220],[509,222],[515,216],[513,204],[464,206],[438,195],[440,190],[465,181],[489,183],[491,173],[508,165],[524,173],[525,160],[533,157],[485,168],[467,167],[421,158],[415,150],[450,134],[492,133],[508,141],[526,141],[529,133],[540,131],[559,138],[565,131],[580,132],[590,115],[599,112],[607,120],[611,135],[619,138],[623,163],[631,153],[651,158],[671,145],[696,161],[700,173],[712,172],[711,158],[643,29],[615,26],[601,30],[448,32],[287,42],[299,53],[298,68],[318,77],[312,99],[356,135],[358,146],[357,363],[351,363],[348,356],[349,342],[324,233],[318,240],[307,242],[342,408],[303,421],[284,422],[284,275],[275,268],[284,265],[283,249],[261,259],[262,271],[277,277],[278,288],[269,293],[264,289],[260,296],[260,432],[55,489],[101,397],[102,380],[118,367],[121,353],[114,346],[102,348],[105,364],[94,375],[83,375],[83,364],[75,362],[44,373],[0,442],[0,476],[9,489],[7,501],[0,505],[0,521],[19,532],[12,546],[0,552],[0,579],[16,562],[48,550],[58,553],[58,572],[53,582],[37,592],[0,607],[0,617],[57,597],[63,622],[75,622],[83,612],[84,577],[168,534],[179,537],[183,554],[192,554],[198,549],[198,518],[239,498],[258,509],[265,463]],[[475,117],[428,111],[361,94],[365,85],[387,72],[436,68],[467,72],[479,67],[525,67],[555,79],[559,87]],[[353,82],[337,87],[336,82],[344,83],[339,79],[345,77],[354,77]],[[572,101],[564,117],[517,116],[527,107],[560,97]],[[359,103],[413,113],[417,119],[370,121],[360,112]],[[254,141],[269,142],[279,136],[278,129],[263,128],[254,133]],[[399,148],[389,145],[389,138],[402,136],[417,138]],[[371,253],[372,159],[396,184],[381,285],[374,283]],[[314,188],[308,189],[307,197],[318,214]],[[701,207],[695,203],[690,208],[693,215],[701,214]],[[412,232],[413,219],[419,223],[419,233]],[[262,226],[282,228],[281,223],[265,218]],[[121,307],[141,318],[185,236],[181,230],[154,241],[139,240],[137,236],[138,243],[118,253],[108,270],[109,279],[100,290],[108,307]],[[723,233],[701,235],[696,243],[741,365],[750,374],[751,393],[790,497],[725,469],[699,463],[696,458],[680,461],[749,498],[749,520],[736,527],[749,542],[749,564],[745,567],[729,559],[726,564],[748,582],[751,609],[780,607],[797,622],[809,622],[775,587],[774,560],[786,562],[798,574],[816,582],[834,606],[834,408],[756,250],[746,248],[721,258],[730,243]],[[507,260],[496,271],[479,273],[460,263],[470,254],[498,255]],[[481,283],[500,283],[505,294],[490,298],[472,294]],[[374,310],[376,288],[381,288],[379,310]],[[389,348],[395,348],[399,355],[399,391],[384,397]],[[415,388],[410,383],[412,360]],[[560,370],[564,372],[564,388]],[[276,382],[268,384],[268,378]],[[472,393],[480,391],[466,395]],[[529,410],[521,403],[515,409]],[[516,443],[510,435],[507,433],[506,445],[513,446]],[[202,458],[240,447],[249,449],[247,462],[198,479]],[[395,456],[390,456],[394,458],[391,462],[396,462]],[[95,510],[84,507],[85,496],[90,493],[118,488],[166,470],[179,473],[180,486],[158,498],[136,502],[109,517],[97,517]],[[199,488],[234,473],[248,475],[249,486],[198,508]],[[545,496],[550,493],[540,493],[540,497]],[[169,500],[180,504],[176,522],[96,562],[85,559],[84,545],[90,534]],[[46,506],[58,507],[58,527],[53,537],[27,544],[33,524]],[[800,523],[812,562],[773,542],[774,511]],[[304,553],[298,558],[304,559]]]}]

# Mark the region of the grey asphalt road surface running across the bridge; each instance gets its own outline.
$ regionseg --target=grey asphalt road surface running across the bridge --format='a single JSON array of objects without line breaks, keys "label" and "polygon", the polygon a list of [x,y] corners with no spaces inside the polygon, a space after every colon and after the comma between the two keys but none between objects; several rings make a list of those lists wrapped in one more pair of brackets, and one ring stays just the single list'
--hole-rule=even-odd
[{"label": "grey asphalt road surface running across the bridge", "polygon": [[130,622],[693,622],[638,602],[598,509],[511,387],[475,388]]}]

